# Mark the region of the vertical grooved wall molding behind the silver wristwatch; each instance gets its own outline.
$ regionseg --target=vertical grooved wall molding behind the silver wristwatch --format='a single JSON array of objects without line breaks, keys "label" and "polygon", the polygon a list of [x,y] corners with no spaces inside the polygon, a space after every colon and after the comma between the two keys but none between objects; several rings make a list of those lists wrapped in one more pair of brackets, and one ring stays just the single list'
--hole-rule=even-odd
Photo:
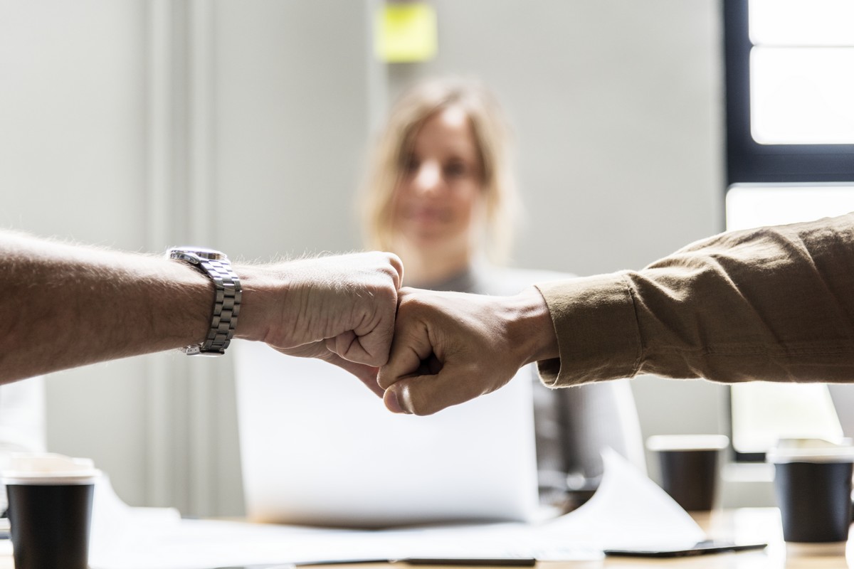
[{"label": "vertical grooved wall molding behind the silver wristwatch", "polygon": [[[154,0],[148,9],[148,248],[211,243],[213,8]],[[216,369],[152,357],[147,502],[217,514]]]}]

